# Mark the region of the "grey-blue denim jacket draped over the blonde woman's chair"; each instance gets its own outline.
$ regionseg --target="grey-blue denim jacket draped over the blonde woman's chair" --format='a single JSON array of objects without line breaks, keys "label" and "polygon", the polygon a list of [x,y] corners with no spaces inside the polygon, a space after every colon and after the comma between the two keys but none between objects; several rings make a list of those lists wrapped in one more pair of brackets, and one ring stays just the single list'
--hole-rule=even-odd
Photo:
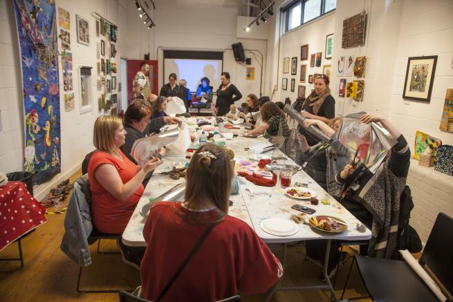
[{"label": "grey-blue denim jacket draped over the blonde woman's chair", "polygon": [[64,218],[65,233],[60,249],[80,266],[91,265],[88,237],[93,230],[88,174],[77,178]]}]

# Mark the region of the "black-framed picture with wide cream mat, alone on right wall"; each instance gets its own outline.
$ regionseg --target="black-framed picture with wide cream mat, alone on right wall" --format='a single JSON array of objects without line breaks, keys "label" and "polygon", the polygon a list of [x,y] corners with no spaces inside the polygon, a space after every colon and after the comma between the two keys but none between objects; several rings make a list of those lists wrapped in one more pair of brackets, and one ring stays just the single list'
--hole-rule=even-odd
[{"label": "black-framed picture with wide cream mat, alone on right wall", "polygon": [[429,102],[436,73],[437,55],[407,59],[403,99]]}]

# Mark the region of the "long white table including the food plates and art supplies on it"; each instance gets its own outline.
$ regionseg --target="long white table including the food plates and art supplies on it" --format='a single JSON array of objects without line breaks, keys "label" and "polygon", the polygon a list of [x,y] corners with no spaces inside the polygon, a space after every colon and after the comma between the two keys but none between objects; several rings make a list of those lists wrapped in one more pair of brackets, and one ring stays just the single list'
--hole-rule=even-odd
[{"label": "long white table including the food plates and art supplies on it", "polygon": [[[281,263],[284,267],[287,243],[326,240],[322,265],[326,277],[324,285],[276,287],[275,290],[328,289],[335,299],[327,274],[331,241],[367,240],[371,238],[371,231],[264,136],[244,136],[245,125],[228,121],[223,123],[219,117],[190,117],[185,120],[185,124],[192,138],[195,137],[194,142],[186,153],[167,149],[167,155],[154,171],[124,230],[122,242],[145,247],[142,230],[152,202],[184,200],[183,171],[189,165],[190,151],[198,148],[198,133],[204,131],[212,134],[210,136],[216,144],[234,153],[234,173],[239,182],[239,194],[230,196],[232,203],[228,214],[250,225],[264,242],[283,245]],[[290,183],[285,183],[286,180],[279,177],[282,171],[289,174]],[[169,177],[172,173],[174,177]],[[314,209],[315,212],[306,214],[293,206],[302,211]]]}]

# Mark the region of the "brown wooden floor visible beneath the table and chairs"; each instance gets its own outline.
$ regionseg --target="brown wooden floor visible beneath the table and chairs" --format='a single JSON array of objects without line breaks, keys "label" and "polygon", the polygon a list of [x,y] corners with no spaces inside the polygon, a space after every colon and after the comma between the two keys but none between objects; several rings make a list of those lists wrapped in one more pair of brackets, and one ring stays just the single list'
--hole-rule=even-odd
[{"label": "brown wooden floor visible beneath the table and chairs", "polygon": [[[71,180],[79,177],[75,173]],[[66,200],[67,202],[67,200]],[[52,209],[50,209],[52,210]],[[0,261],[0,301],[118,301],[118,294],[80,294],[76,291],[79,267],[59,249],[64,234],[64,214],[46,214],[48,222],[22,239],[24,268],[19,261]],[[118,254],[97,254],[96,244],[91,245],[93,265],[82,272],[82,288],[132,288],[140,285],[138,270],[122,263]],[[117,252],[116,243],[103,240],[102,250]],[[277,256],[280,248],[271,246]],[[313,263],[304,261],[297,250],[302,245],[288,247],[288,262],[283,285],[308,285],[319,283],[321,271]],[[17,244],[0,252],[0,258],[17,257]],[[346,279],[347,262],[338,275],[337,294]],[[357,270],[353,269],[347,297],[365,294]],[[330,294],[321,290],[277,292],[270,301],[330,301]],[[242,301],[263,301],[264,294],[243,295]],[[357,301],[371,301],[369,299]]]}]

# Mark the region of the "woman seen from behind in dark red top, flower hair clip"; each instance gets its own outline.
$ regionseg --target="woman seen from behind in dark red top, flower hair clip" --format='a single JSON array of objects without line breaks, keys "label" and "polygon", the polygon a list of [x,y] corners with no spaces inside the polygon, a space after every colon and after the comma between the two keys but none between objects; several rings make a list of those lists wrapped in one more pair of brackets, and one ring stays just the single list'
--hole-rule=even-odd
[{"label": "woman seen from behind in dark red top, flower hair clip", "polygon": [[265,292],[282,276],[278,259],[253,229],[228,215],[232,176],[225,150],[205,144],[187,168],[185,201],[151,207],[140,273],[145,299],[218,301]]}]

